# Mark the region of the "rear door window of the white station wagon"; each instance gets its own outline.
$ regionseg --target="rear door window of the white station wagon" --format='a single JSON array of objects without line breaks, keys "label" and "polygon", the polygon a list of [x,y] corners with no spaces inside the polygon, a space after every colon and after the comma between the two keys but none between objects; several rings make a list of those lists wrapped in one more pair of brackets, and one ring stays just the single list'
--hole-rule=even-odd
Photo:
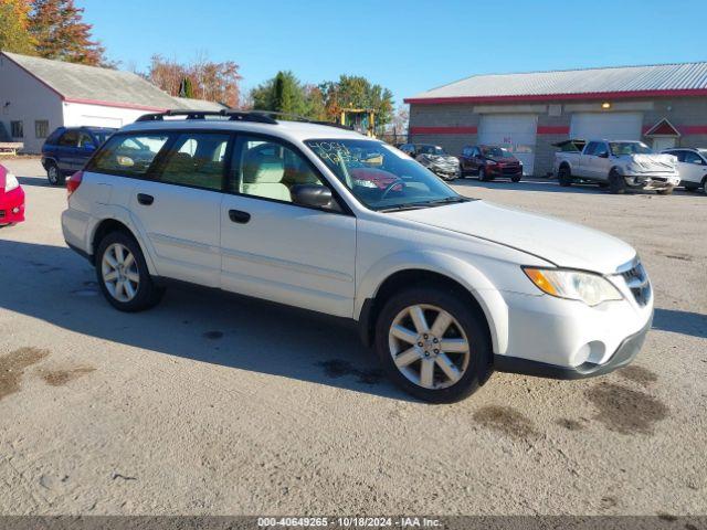
[{"label": "rear door window of the white station wagon", "polygon": [[231,135],[188,132],[177,136],[155,176],[160,182],[220,191]]}]

